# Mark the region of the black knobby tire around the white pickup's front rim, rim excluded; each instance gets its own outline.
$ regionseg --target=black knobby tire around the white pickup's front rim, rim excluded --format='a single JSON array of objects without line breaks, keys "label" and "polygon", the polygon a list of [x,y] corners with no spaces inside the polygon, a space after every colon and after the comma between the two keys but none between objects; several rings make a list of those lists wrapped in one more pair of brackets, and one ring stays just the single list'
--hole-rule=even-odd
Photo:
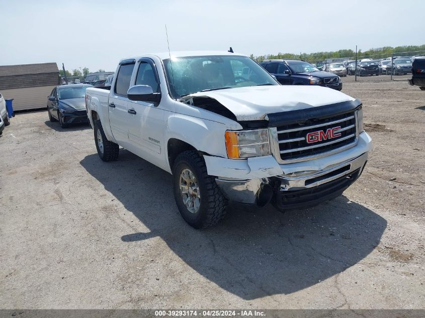
[{"label": "black knobby tire around the white pickup's front rim, rim excluded", "polygon": [[[180,193],[180,173],[184,169],[191,170],[199,184],[201,202],[195,213],[187,209]],[[226,215],[227,199],[215,182],[215,177],[207,174],[204,158],[197,151],[185,151],[176,158],[173,165],[173,190],[181,216],[195,229],[214,226]]]}]

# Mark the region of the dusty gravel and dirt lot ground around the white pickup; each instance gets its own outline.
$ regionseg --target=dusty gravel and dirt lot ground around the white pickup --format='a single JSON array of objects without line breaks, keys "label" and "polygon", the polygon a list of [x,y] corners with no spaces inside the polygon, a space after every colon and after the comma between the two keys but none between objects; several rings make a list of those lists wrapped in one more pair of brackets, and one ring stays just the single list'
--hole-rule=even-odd
[{"label": "dusty gravel and dirt lot ground around the white pickup", "polygon": [[1,308],[423,308],[425,92],[388,77],[344,78],[374,149],[343,196],[204,231],[164,171],[18,114],[0,137]]}]

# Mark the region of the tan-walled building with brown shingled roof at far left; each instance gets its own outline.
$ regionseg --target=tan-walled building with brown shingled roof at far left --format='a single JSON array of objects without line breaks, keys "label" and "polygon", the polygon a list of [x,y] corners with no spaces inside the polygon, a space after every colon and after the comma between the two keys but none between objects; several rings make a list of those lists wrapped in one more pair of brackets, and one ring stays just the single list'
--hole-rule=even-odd
[{"label": "tan-walled building with brown shingled roof at far left", "polygon": [[47,96],[58,84],[56,63],[0,66],[0,92],[14,98],[15,111],[46,107]]}]

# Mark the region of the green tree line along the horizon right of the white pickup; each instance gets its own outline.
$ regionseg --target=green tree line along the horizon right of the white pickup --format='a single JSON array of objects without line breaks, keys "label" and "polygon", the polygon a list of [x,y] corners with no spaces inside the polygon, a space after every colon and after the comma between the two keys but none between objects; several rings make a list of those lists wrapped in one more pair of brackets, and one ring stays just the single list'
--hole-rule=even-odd
[{"label": "green tree line along the horizon right of the white pickup", "polygon": [[[379,56],[382,57],[388,57],[391,56],[391,54],[394,53],[394,55],[403,53],[403,52],[415,52],[415,51],[425,51],[425,44],[423,45],[405,45],[405,46],[384,46],[382,48],[373,48],[366,50],[362,52],[362,50],[357,51],[357,56],[362,58],[379,58]],[[412,54],[416,55],[416,54]],[[300,54],[293,54],[293,53],[278,53],[278,54],[265,54],[261,56],[254,56],[253,54],[250,55],[250,58],[254,61],[257,61],[258,63],[263,62],[264,60],[268,59],[289,59],[289,58],[297,58],[302,59],[305,61],[323,61],[327,58],[342,58],[342,57],[350,57],[354,58],[356,56],[356,51],[351,49],[346,50],[338,50],[338,51],[329,51],[329,52],[316,52],[316,53],[300,53]]]}]

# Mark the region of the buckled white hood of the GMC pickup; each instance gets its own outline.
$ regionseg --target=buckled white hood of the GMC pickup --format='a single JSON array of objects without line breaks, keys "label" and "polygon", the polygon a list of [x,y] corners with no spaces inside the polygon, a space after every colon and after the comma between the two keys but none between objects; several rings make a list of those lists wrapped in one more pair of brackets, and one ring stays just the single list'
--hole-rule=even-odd
[{"label": "buckled white hood of the GMC pickup", "polygon": [[273,85],[227,88],[190,94],[182,101],[196,97],[213,98],[232,112],[238,121],[265,120],[268,114],[354,101],[335,89],[321,86]]}]

